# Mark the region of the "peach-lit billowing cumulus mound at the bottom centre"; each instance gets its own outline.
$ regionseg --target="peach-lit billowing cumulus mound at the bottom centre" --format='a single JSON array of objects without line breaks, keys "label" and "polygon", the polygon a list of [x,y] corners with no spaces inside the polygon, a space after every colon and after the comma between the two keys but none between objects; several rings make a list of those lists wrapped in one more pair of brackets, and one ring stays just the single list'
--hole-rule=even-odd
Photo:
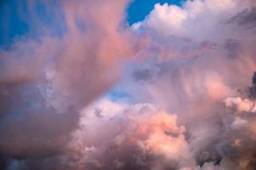
[{"label": "peach-lit billowing cumulus mound at the bottom centre", "polygon": [[[97,116],[95,109],[103,116]],[[73,133],[70,147],[75,150],[69,160],[82,157],[74,160],[71,169],[79,163],[86,168],[92,162],[92,169],[182,169],[195,164],[185,127],[177,125],[176,115],[154,105],[102,100],[82,115],[82,128]]]}]

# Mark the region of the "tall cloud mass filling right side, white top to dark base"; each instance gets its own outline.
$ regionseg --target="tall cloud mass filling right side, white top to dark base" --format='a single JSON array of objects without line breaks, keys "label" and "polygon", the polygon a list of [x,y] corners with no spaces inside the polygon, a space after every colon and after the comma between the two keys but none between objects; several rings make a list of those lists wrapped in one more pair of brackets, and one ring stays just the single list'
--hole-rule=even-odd
[{"label": "tall cloud mass filling right side, white top to dark base", "polygon": [[[139,90],[131,94],[177,113],[198,168],[254,168],[255,146],[243,143],[254,141],[255,117],[241,114],[253,112],[254,86],[245,90],[251,96],[237,92],[247,89],[255,70],[253,5],[239,0],[156,4],[133,27],[150,41],[151,61],[134,66]],[[139,79],[144,71],[147,78]],[[140,91],[146,91],[144,98]]]}]

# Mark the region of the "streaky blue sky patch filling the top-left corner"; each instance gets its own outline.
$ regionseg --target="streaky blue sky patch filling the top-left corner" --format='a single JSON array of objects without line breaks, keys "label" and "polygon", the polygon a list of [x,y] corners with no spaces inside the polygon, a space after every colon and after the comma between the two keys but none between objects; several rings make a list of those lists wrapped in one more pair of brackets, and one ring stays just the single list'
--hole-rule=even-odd
[{"label": "streaky blue sky patch filling the top-left corner", "polygon": [[0,48],[9,48],[20,38],[37,41],[45,35],[65,35],[65,17],[60,5],[60,1],[0,1]]}]

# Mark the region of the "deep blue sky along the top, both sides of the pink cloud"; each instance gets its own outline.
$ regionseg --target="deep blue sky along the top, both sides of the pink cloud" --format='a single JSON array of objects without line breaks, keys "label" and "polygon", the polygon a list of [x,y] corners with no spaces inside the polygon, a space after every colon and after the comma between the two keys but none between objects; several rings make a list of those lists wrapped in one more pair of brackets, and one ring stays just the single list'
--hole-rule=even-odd
[{"label": "deep blue sky along the top, both sides of the pink cloud", "polygon": [[[147,14],[150,14],[151,10],[154,8],[156,3],[168,3],[168,4],[177,4],[182,3],[183,0],[134,0],[128,6],[128,15],[127,20],[130,25],[134,22],[144,20]],[[25,3],[16,0],[6,0],[0,2],[0,47],[9,46],[16,38],[19,37],[28,37],[32,38],[37,37],[37,32],[35,28],[31,28],[31,23],[28,23],[27,20],[30,20],[31,16],[28,14],[28,10]],[[56,5],[56,4],[54,4]],[[63,27],[61,23],[56,24],[54,20],[54,14],[46,14],[42,4],[38,3],[37,7],[38,18],[42,19],[44,26],[50,26],[53,33],[62,32]],[[21,16],[20,16],[21,14]],[[31,30],[34,29],[31,34]],[[62,29],[62,30],[61,30]],[[30,35],[28,35],[30,32]]]}]

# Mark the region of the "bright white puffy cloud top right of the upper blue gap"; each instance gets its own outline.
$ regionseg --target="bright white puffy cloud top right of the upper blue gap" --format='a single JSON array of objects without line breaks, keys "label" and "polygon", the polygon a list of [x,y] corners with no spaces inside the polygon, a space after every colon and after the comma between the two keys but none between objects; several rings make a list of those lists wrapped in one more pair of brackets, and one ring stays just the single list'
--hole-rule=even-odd
[{"label": "bright white puffy cloud top right of the upper blue gap", "polygon": [[227,20],[246,10],[250,11],[250,8],[247,1],[239,0],[186,1],[182,7],[156,3],[141,25],[163,37],[174,35],[196,40],[215,39],[218,37],[214,37],[214,34],[230,35],[225,26]]}]

